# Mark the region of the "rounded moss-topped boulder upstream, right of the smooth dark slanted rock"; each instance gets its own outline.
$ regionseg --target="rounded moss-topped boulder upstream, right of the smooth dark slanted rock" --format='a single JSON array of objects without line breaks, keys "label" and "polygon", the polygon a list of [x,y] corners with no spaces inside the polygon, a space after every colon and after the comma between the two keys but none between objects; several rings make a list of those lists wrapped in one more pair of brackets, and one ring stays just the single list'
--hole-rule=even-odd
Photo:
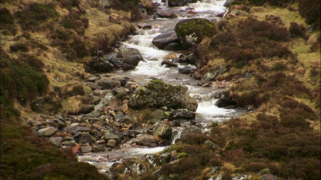
[{"label": "rounded moss-topped boulder upstream, right of the smooth dark slanted rock", "polygon": [[176,24],[175,32],[185,46],[197,46],[204,37],[213,35],[214,25],[206,18],[184,19]]}]

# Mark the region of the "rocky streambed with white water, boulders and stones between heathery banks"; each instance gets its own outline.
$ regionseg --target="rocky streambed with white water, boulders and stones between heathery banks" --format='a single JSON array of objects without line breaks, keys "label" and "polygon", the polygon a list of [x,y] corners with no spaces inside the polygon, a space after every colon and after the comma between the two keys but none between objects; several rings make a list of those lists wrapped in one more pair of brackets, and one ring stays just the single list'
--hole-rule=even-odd
[{"label": "rocky streambed with white water, boulders and stones between heathery banks", "polygon": [[113,53],[98,52],[92,58],[88,68],[98,73],[88,73],[82,84],[68,88],[89,87],[90,105],[76,115],[23,118],[37,135],[71,148],[80,161],[111,177],[111,166],[123,165],[121,173],[139,175],[147,166],[169,162],[171,153],[153,154],[184,135],[209,133],[213,122],[247,111],[224,96],[233,81],[214,81],[225,67],[198,72],[198,59],[187,49],[206,33],[178,33],[186,23],[195,24],[192,30],[197,32],[202,32],[200,24],[212,28],[225,12],[225,1],[171,8],[154,3],[157,13],[136,23],[136,35],[116,43]]}]

